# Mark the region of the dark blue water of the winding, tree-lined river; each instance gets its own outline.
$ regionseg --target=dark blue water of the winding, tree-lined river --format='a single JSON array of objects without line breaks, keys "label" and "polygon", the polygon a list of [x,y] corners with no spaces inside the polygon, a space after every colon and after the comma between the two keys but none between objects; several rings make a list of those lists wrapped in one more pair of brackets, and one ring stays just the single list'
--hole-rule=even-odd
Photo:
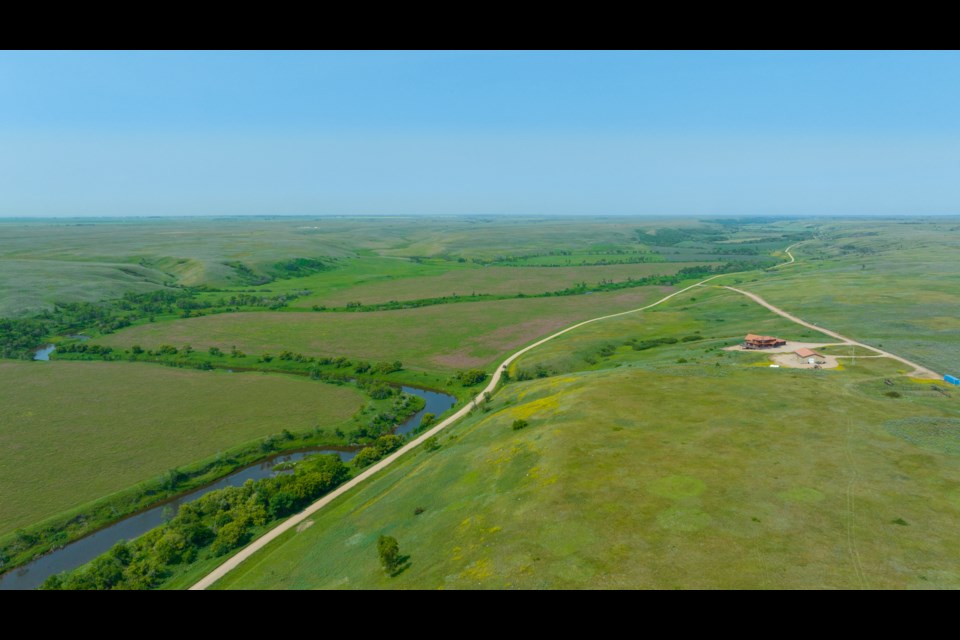
[{"label": "dark blue water of the winding, tree-lined river", "polygon": [[[52,347],[50,351],[47,351],[44,355],[49,357],[51,351],[53,351]],[[394,433],[398,435],[406,436],[416,430],[416,428],[420,426],[420,420],[424,414],[432,413],[438,416],[456,404],[456,398],[445,393],[407,386],[401,387],[401,389],[405,393],[423,398],[424,407],[394,429]],[[317,447],[271,456],[256,464],[234,471],[230,475],[205,487],[195,489],[173,500],[163,502],[145,511],[128,516],[84,538],[75,540],[60,549],[40,556],[36,560],[21,567],[12,569],[8,573],[0,576],[0,591],[36,589],[49,576],[84,565],[97,556],[109,551],[110,548],[120,540],[132,540],[150,531],[154,527],[160,526],[173,517],[180,505],[184,503],[196,500],[211,491],[224,489],[226,487],[239,487],[247,480],[269,478],[278,473],[292,473],[292,470],[275,471],[274,467],[284,462],[296,462],[318,453],[336,453],[340,456],[341,460],[347,461],[352,459],[357,454],[357,451],[354,449],[335,450]]]}]

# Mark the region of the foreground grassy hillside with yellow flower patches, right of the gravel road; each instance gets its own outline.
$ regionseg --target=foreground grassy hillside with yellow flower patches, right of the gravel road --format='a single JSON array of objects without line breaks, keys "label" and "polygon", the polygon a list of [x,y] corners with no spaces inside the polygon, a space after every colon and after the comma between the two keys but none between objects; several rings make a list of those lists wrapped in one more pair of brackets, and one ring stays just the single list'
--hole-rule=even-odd
[{"label": "foreground grassy hillside with yellow flower patches, right of the gravel road", "polygon": [[[218,586],[960,588],[957,394],[904,380],[887,397],[886,375],[744,363],[513,384]],[[409,556],[395,577],[381,534]]]}]

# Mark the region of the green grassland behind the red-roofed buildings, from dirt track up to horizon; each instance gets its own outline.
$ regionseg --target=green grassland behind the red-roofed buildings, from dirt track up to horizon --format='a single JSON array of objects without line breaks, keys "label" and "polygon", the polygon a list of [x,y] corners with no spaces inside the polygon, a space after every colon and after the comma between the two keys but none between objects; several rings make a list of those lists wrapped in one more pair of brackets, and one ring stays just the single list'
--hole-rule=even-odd
[{"label": "green grassland behind the red-roofed buildings, from dirt track up to horizon", "polygon": [[832,222],[793,253],[796,264],[741,286],[804,320],[960,372],[960,220]]}]

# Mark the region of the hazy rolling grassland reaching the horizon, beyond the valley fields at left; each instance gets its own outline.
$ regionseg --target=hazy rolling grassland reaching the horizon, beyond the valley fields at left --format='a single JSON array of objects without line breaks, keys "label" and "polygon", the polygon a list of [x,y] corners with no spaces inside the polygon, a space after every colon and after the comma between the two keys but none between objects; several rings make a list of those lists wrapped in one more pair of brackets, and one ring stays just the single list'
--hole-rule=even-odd
[{"label": "hazy rolling grassland reaching the horizon, beyond the valley fields at left", "polygon": [[[687,229],[694,240],[661,248],[644,244],[651,237],[647,232],[667,228]],[[703,229],[710,233],[698,231]],[[715,233],[718,229],[723,235]],[[769,238],[770,246],[779,246],[786,244],[785,234],[803,231],[802,225],[790,220],[745,221],[741,228],[693,219],[652,218],[3,220],[0,273],[4,275],[0,292],[4,295],[0,296],[0,317],[27,315],[50,308],[54,302],[117,298],[149,287],[249,289],[282,275],[278,265],[295,258],[321,259],[340,273],[275,280],[262,288],[309,289],[317,300],[323,300],[328,294],[343,294],[353,285],[378,277],[442,275],[487,263],[526,264],[524,261],[543,260],[543,256],[557,252],[576,254],[577,264],[612,263],[637,252],[653,261],[715,262],[725,258],[715,252],[722,253],[720,247],[729,246],[719,241],[759,236]],[[766,246],[762,249],[766,251]],[[661,250],[663,255],[656,253]],[[544,264],[567,265],[570,255],[561,256],[564,262]],[[470,277],[479,278],[467,283],[471,289],[487,283],[482,275]],[[531,275],[513,277],[524,281]],[[560,276],[545,276],[548,280],[553,277]],[[598,279],[609,277],[599,274]],[[574,281],[584,279],[590,281],[586,274]],[[546,290],[569,284],[564,281]],[[507,289],[516,293],[524,286]]]}]

